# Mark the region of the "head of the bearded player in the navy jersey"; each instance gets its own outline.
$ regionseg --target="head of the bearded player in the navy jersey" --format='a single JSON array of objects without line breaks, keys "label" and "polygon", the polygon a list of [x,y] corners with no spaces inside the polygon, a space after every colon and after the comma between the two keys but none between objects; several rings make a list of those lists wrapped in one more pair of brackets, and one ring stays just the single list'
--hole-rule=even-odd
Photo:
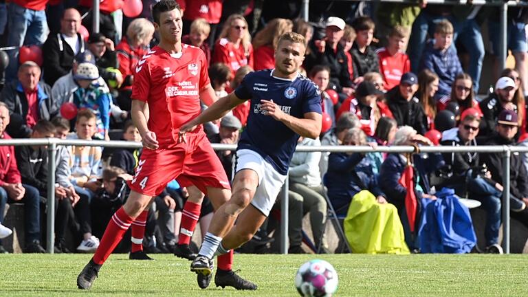
[{"label": "head of the bearded player in the navy jersey", "polygon": [[275,68],[283,74],[298,72],[300,65],[305,60],[305,45],[283,40],[277,45],[275,51]]}]

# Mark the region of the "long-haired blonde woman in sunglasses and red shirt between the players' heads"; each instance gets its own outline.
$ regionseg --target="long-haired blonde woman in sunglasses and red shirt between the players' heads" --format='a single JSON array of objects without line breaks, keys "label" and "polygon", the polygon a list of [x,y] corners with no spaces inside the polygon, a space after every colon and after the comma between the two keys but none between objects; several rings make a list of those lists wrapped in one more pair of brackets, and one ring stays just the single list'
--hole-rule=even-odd
[{"label": "long-haired blonde woman in sunglasses and red shirt between the players' heads", "polygon": [[214,44],[212,63],[228,65],[234,75],[240,67],[253,67],[253,46],[248,23],[241,14],[231,14]]}]

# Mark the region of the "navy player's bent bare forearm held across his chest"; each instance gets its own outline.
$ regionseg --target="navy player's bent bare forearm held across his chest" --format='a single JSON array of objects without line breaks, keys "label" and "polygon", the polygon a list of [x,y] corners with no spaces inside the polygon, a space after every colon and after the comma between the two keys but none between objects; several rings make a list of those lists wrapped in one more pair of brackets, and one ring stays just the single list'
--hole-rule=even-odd
[{"label": "navy player's bent bare forearm held across his chest", "polygon": [[298,135],[316,139],[321,133],[322,115],[316,112],[305,113],[305,118],[296,118],[284,113],[273,100],[261,100],[261,109],[275,120],[283,122]]}]

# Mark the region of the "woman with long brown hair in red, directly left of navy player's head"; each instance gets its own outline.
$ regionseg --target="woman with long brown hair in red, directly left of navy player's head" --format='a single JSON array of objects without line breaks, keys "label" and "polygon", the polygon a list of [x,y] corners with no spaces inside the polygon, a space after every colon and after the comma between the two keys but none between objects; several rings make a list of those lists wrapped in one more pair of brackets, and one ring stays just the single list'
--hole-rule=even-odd
[{"label": "woman with long brown hair in red, directly left of navy player's head", "polygon": [[292,32],[294,23],[289,19],[272,19],[253,39],[255,70],[275,68],[275,48],[278,37]]}]

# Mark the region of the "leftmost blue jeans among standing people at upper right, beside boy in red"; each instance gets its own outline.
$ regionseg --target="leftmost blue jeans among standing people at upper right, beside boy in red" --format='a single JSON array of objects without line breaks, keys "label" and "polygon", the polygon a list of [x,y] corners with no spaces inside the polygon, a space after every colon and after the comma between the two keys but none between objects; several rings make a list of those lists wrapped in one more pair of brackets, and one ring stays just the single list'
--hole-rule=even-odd
[{"label": "leftmost blue jeans among standing people at upper right, beside boy in red", "polygon": [[[448,19],[448,21],[450,21],[455,27],[456,21],[452,16],[434,16],[424,12],[423,10],[420,12],[420,14],[418,14],[415,22],[412,23],[412,30],[407,52],[410,59],[410,69],[412,72],[415,72],[415,74],[418,74],[421,54],[423,53],[423,48],[426,46],[427,35],[429,34],[429,36],[432,38],[432,36],[434,36],[434,28],[436,27],[437,23],[443,19]],[[456,30],[453,36],[453,40],[455,39]]]}]

